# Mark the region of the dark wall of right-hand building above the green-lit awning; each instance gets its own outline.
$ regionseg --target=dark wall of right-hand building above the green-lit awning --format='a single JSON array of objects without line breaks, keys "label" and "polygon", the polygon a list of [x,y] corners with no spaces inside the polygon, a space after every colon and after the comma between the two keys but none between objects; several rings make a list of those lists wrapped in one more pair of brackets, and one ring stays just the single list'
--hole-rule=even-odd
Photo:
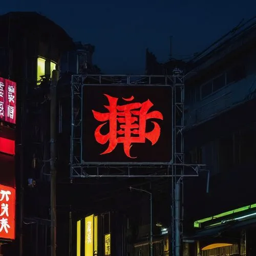
[{"label": "dark wall of right-hand building above the green-lit awning", "polygon": [[[253,48],[243,52],[237,49],[186,81],[186,162],[206,164],[199,177],[185,185],[186,218],[211,216],[254,200],[255,55]],[[229,83],[232,68],[234,79]],[[215,83],[222,74],[223,82]],[[212,91],[204,90],[213,80]],[[210,173],[208,193],[204,170]]]}]

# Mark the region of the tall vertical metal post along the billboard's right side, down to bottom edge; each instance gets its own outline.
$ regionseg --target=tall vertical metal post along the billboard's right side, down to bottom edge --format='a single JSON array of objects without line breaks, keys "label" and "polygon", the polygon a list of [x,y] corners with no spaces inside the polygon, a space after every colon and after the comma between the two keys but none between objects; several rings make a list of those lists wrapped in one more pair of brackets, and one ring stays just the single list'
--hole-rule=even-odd
[{"label": "tall vertical metal post along the billboard's right side, down to bottom edge", "polygon": [[[180,256],[182,249],[181,200],[183,204],[184,175],[184,76],[181,70],[173,71],[173,169],[172,169],[172,255]],[[180,178],[177,177],[180,175]],[[182,193],[182,195],[181,195]],[[182,206],[183,207],[183,206]]]}]

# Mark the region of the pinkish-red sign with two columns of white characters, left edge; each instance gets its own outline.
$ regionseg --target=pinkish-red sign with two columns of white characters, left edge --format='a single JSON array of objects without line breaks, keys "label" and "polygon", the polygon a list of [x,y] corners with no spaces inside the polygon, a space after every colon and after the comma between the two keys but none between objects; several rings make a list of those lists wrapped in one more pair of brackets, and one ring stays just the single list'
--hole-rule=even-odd
[{"label": "pinkish-red sign with two columns of white characters, left edge", "polygon": [[16,83],[0,77],[0,119],[16,122]]}]

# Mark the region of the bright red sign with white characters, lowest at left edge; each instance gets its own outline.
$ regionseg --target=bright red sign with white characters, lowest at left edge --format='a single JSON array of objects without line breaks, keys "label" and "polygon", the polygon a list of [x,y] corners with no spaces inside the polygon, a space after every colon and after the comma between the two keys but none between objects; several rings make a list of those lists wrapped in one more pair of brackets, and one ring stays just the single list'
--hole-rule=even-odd
[{"label": "bright red sign with white characters, lowest at left edge", "polygon": [[15,188],[0,185],[0,238],[15,239]]}]

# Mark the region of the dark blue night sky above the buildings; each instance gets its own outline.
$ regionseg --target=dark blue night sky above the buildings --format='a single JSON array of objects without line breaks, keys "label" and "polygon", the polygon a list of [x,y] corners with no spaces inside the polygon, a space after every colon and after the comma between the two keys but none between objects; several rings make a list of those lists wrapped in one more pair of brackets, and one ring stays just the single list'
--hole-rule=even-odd
[{"label": "dark blue night sky above the buildings", "polygon": [[112,74],[144,73],[147,47],[159,61],[167,61],[170,35],[173,56],[184,58],[206,48],[242,18],[256,15],[252,0],[48,1],[5,1],[0,14],[44,14],[74,40],[95,45],[94,63]]}]

